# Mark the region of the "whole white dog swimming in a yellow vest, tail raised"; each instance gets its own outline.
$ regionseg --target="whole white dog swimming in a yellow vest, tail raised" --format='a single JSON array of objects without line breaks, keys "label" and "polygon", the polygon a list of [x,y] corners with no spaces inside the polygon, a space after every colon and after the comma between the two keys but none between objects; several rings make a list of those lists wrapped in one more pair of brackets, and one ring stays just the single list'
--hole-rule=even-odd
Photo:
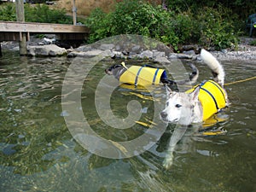
[{"label": "whole white dog swimming in a yellow vest, tail raised", "polygon": [[229,103],[223,88],[224,68],[205,49],[201,49],[201,59],[212,70],[214,81],[204,81],[186,92],[175,92],[166,86],[166,108],[160,113],[160,117],[166,122],[177,124],[164,160],[163,166],[166,168],[172,166],[174,149],[188,125],[206,121]]}]

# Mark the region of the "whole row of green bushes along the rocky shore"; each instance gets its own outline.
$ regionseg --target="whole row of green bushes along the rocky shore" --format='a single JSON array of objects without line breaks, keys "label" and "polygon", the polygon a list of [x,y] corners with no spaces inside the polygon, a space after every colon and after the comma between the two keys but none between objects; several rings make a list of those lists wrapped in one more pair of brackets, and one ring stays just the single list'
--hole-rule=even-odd
[{"label": "whole row of green bushes along the rocky shore", "polygon": [[230,9],[221,7],[196,13],[189,9],[178,12],[139,0],[125,0],[108,14],[96,9],[85,25],[90,27],[90,42],[119,34],[139,34],[171,44],[174,49],[178,44],[191,43],[226,49],[237,44],[235,16],[230,16]]}]

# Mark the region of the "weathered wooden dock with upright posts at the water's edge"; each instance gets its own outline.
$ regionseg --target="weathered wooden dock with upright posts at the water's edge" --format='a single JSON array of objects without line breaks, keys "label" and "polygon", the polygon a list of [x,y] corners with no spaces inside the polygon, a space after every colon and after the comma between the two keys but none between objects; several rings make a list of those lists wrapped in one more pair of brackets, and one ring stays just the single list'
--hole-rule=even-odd
[{"label": "weathered wooden dock with upright posts at the water's edge", "polygon": [[24,0],[15,0],[16,22],[0,22],[0,56],[2,41],[19,41],[20,55],[26,55],[26,41],[34,33],[57,34],[57,40],[84,40],[89,35],[86,26],[76,25],[76,7],[73,0],[73,25],[25,22]]}]

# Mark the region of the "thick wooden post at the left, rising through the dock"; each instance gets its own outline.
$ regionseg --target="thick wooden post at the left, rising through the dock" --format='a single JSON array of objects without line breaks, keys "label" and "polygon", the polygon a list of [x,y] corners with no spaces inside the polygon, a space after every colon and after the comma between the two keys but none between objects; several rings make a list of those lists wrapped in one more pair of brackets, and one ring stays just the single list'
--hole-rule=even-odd
[{"label": "thick wooden post at the left, rising through the dock", "polygon": [[[17,21],[25,22],[25,15],[24,15],[24,0],[16,0],[16,17]],[[26,33],[20,32],[20,55],[26,55]]]}]

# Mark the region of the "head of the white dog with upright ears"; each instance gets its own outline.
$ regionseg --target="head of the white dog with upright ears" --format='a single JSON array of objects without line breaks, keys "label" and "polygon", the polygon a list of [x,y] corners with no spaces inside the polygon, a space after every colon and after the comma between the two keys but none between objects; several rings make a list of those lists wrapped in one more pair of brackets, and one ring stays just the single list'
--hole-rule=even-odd
[{"label": "head of the white dog with upright ears", "polygon": [[166,108],[160,113],[160,118],[168,123],[179,123],[190,125],[194,118],[195,105],[200,105],[198,100],[200,88],[196,88],[191,93],[172,91],[166,86]]}]

